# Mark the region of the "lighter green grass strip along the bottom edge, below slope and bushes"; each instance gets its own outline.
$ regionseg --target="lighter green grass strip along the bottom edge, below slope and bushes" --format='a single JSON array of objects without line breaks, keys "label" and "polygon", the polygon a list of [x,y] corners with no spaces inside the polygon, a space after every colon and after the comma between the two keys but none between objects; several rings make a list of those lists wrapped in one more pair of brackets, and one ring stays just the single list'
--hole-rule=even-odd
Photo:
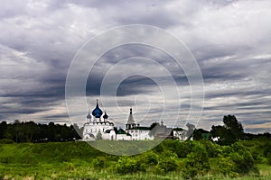
[{"label": "lighter green grass strip along the bottom edge, below slope and bushes", "polygon": [[[100,170],[88,166],[70,163],[61,164],[44,164],[40,166],[0,166],[0,171],[3,173],[2,179],[183,179],[182,175],[171,172],[167,175],[154,175],[147,173],[136,173],[132,175],[119,175],[112,171]],[[237,179],[237,180],[270,180],[271,167],[260,166],[260,176],[241,176],[227,177],[223,175],[204,175],[198,179]]]}]

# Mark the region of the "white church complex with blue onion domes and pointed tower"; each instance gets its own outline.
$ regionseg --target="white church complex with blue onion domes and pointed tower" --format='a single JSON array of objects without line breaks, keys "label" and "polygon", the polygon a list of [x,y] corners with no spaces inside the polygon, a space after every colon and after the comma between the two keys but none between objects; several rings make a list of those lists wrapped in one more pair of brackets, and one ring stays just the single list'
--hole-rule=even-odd
[{"label": "white church complex with blue onion domes and pointed tower", "polygon": [[[92,114],[92,115],[91,115]],[[186,139],[187,130],[167,128],[163,121],[161,125],[153,128],[140,126],[135,123],[132,108],[128,120],[126,122],[126,130],[118,129],[114,126],[112,121],[108,121],[107,112],[103,113],[98,106],[98,100],[95,109],[87,115],[87,122],[83,127],[84,141],[97,140],[97,139],[110,139],[110,140],[152,140],[155,138],[170,137],[173,139]]]}]

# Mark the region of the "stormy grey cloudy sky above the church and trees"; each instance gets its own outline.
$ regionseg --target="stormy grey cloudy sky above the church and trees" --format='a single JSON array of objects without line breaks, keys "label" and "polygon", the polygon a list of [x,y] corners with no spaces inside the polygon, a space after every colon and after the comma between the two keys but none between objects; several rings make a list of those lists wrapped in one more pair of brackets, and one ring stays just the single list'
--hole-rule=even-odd
[{"label": "stormy grey cloudy sky above the church and trees", "polygon": [[[71,123],[65,82],[76,53],[104,31],[145,24],[182,40],[201,67],[204,103],[199,104],[203,111],[197,128],[210,130],[211,125],[221,124],[224,115],[234,114],[246,131],[270,132],[270,8],[269,0],[1,1],[0,121]],[[175,85],[166,81],[162,68],[136,57],[153,59],[167,69]],[[130,60],[119,64],[126,58]],[[117,76],[135,68],[150,76],[126,76],[116,92],[100,93],[108,72],[114,84]],[[173,89],[179,93],[178,101]],[[126,121],[132,106],[135,121],[142,124],[158,121],[164,112],[165,124],[182,126],[191,108],[190,90],[173,57],[155,47],[127,44],[108,49],[89,70],[88,105],[81,115],[91,112],[99,99],[102,110],[116,123]]]}]

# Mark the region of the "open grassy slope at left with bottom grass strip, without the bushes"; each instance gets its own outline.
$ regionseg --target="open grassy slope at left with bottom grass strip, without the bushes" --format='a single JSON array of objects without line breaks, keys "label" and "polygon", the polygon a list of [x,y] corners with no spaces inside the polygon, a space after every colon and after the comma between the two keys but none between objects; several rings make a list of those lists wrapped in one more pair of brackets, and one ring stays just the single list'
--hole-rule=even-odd
[{"label": "open grassy slope at left with bottom grass strip, without the bushes", "polygon": [[[117,145],[117,146],[120,146]],[[110,169],[92,166],[95,157],[108,156],[85,142],[61,142],[41,144],[0,144],[0,179],[2,177],[31,177],[30,179],[181,179],[173,172],[167,175],[116,175]],[[258,165],[261,177],[240,177],[238,179],[271,179],[271,166]],[[90,177],[90,178],[89,178]],[[201,179],[225,179],[220,176],[204,176]],[[230,178],[229,178],[230,179]]]}]

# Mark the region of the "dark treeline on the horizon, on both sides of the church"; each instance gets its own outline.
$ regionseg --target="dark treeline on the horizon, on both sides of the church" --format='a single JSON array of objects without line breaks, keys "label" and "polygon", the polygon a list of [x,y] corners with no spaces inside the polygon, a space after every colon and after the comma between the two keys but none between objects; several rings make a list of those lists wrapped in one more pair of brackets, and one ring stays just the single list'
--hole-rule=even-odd
[{"label": "dark treeline on the horizon, on both sides of the church", "polygon": [[[157,123],[153,123],[153,128]],[[117,131],[117,130],[116,130]],[[79,132],[79,133],[78,133]],[[6,142],[56,142],[81,139],[82,128],[77,124],[40,124],[33,121],[18,121],[0,123],[0,139]],[[173,133],[172,133],[173,134]],[[173,136],[170,136],[173,137]],[[239,140],[271,139],[271,134],[249,134],[244,132],[241,122],[234,115],[223,117],[223,125],[211,126],[211,130],[196,129],[192,133],[195,140],[212,139],[220,145],[230,145]]]}]

